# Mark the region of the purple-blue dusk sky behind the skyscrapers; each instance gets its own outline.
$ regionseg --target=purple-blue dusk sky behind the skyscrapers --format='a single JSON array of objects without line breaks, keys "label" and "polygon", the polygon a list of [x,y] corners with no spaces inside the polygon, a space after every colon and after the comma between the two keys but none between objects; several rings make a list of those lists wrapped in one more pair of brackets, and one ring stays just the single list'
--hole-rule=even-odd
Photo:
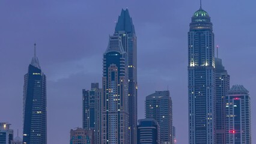
[{"label": "purple-blue dusk sky behind the skyscrapers", "polygon": [[[203,1],[212,17],[219,58],[251,94],[255,136],[255,1]],[[145,97],[169,85],[178,143],[188,143],[187,32],[199,0],[0,1],[0,122],[22,133],[23,75],[37,55],[47,76],[48,143],[69,143],[82,127],[82,89],[102,83],[102,55],[121,8],[129,8],[138,37],[138,118]],[[20,134],[21,136],[21,134]]]}]

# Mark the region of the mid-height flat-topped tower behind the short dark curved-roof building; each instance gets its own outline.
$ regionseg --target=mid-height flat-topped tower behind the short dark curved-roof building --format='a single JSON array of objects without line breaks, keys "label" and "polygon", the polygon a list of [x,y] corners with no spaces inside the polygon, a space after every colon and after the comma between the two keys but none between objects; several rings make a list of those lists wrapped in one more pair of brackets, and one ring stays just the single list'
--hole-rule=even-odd
[{"label": "mid-height flat-topped tower behind the short dark curved-roof building", "polygon": [[156,91],[145,101],[145,118],[154,119],[160,127],[160,143],[172,144],[172,100],[169,91]]}]

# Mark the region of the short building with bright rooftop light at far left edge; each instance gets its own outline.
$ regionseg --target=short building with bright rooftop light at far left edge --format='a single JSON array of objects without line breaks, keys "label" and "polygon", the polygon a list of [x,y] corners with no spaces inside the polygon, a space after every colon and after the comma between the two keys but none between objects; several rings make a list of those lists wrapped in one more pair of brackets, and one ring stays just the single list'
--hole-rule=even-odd
[{"label": "short building with bright rooftop light at far left edge", "polygon": [[10,125],[7,122],[0,122],[0,143],[11,144],[13,140],[13,130],[10,129]]}]

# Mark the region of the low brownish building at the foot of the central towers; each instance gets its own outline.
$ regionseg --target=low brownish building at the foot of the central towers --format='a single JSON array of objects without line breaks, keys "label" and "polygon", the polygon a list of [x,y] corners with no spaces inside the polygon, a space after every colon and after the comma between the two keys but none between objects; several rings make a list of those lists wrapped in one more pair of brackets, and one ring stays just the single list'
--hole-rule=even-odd
[{"label": "low brownish building at the foot of the central towers", "polygon": [[70,130],[70,144],[94,144],[94,130]]}]

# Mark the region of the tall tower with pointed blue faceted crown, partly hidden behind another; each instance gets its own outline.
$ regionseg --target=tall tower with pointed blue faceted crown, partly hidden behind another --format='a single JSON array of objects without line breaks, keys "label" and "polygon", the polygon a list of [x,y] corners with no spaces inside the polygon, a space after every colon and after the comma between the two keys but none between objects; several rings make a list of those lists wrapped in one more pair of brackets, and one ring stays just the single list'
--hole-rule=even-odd
[{"label": "tall tower with pointed blue faceted crown, partly hidden behind another", "polygon": [[120,35],[124,51],[128,55],[129,71],[129,135],[130,143],[136,144],[137,127],[137,37],[128,9],[121,11],[115,26],[115,34]]}]

